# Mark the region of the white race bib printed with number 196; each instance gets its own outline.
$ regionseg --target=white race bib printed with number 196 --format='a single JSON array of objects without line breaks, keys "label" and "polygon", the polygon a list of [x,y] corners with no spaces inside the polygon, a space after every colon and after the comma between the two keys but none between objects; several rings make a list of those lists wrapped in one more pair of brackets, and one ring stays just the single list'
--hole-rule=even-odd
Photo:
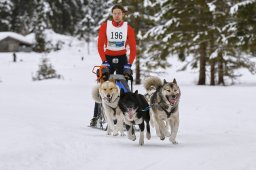
[{"label": "white race bib printed with number 196", "polygon": [[112,51],[119,51],[125,49],[125,42],[127,40],[128,25],[124,22],[121,27],[115,27],[112,21],[107,22],[107,49]]}]

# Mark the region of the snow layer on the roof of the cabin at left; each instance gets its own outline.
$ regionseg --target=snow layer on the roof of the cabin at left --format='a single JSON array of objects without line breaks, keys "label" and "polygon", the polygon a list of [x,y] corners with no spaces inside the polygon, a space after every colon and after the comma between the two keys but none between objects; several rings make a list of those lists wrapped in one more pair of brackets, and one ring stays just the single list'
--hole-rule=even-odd
[{"label": "snow layer on the roof of the cabin at left", "polygon": [[13,39],[16,39],[18,41],[21,41],[22,43],[25,44],[33,44],[33,41],[31,38],[23,36],[21,34],[15,33],[15,32],[0,32],[0,41],[2,41],[3,39],[10,37]]}]

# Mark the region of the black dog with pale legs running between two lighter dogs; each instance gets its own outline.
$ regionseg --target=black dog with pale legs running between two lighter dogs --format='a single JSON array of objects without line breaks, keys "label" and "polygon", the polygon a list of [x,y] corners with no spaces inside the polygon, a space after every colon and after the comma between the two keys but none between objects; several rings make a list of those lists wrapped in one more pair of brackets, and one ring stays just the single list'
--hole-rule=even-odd
[{"label": "black dog with pale legs running between two lighter dogs", "polygon": [[118,103],[119,108],[124,114],[124,122],[126,124],[126,130],[128,131],[128,139],[136,140],[134,133],[134,125],[139,125],[140,128],[140,140],[139,144],[144,144],[144,129],[146,122],[147,129],[147,139],[151,138],[150,134],[150,115],[149,115],[149,105],[143,95],[138,94],[136,90],[135,93],[127,92],[122,93]]}]

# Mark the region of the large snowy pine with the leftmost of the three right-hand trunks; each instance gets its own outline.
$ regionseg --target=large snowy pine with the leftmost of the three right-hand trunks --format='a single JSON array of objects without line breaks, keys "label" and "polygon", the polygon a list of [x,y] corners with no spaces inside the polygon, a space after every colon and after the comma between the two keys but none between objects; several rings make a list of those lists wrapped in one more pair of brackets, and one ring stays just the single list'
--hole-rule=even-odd
[{"label": "large snowy pine with the leftmost of the three right-hand trunks", "polygon": [[208,30],[212,22],[207,3],[166,0],[159,4],[161,11],[155,15],[159,18],[158,24],[148,32],[156,40],[149,52],[163,68],[169,66],[166,61],[171,54],[178,54],[183,60],[193,54],[200,63],[198,84],[205,84]]}]

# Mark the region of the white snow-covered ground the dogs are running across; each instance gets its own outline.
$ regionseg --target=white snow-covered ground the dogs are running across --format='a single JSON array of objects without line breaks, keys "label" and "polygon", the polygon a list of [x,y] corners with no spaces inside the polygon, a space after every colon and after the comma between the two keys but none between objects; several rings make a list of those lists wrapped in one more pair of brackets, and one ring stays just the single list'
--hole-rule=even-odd
[{"label": "white snow-covered ground the dogs are running across", "polygon": [[[43,54],[0,53],[0,170],[254,170],[256,76],[240,84],[196,86],[197,74],[176,72],[182,90],[178,145],[152,139],[144,146],[127,136],[89,128],[100,63],[96,45],[75,44],[47,54],[64,79],[32,81]],[[84,57],[82,61],[81,58]],[[142,86],[135,86],[144,93]]]}]

